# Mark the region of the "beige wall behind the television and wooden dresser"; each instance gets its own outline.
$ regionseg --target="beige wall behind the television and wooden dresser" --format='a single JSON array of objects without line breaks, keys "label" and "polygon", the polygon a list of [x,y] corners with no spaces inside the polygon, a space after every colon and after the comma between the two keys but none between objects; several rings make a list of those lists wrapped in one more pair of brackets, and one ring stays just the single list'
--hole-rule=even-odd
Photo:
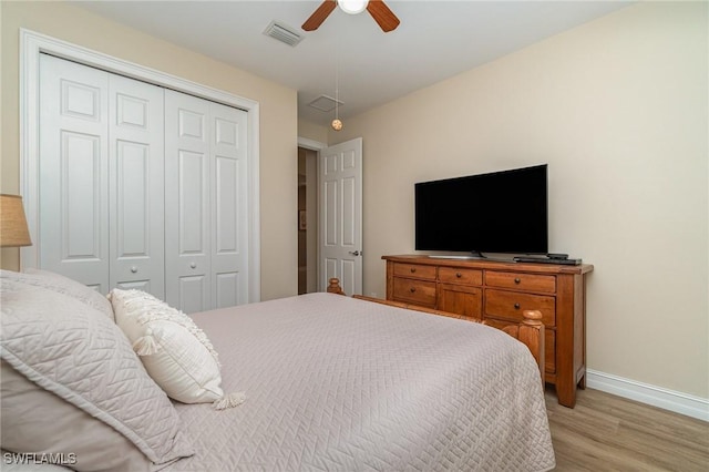
[{"label": "beige wall behind the television and wooden dresser", "polygon": [[707,3],[648,2],[346,122],[364,293],[413,250],[413,183],[549,164],[552,252],[595,265],[588,368],[709,398]]}]

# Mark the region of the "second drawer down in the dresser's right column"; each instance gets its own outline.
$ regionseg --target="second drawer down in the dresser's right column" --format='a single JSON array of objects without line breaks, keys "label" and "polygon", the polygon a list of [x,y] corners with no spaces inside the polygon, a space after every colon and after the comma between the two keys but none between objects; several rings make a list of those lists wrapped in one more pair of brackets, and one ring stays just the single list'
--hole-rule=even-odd
[{"label": "second drawer down in the dresser's right column", "polygon": [[542,322],[556,326],[556,300],[546,295],[521,294],[518,291],[493,290],[485,291],[485,318],[489,316],[522,321],[522,311],[542,311]]}]

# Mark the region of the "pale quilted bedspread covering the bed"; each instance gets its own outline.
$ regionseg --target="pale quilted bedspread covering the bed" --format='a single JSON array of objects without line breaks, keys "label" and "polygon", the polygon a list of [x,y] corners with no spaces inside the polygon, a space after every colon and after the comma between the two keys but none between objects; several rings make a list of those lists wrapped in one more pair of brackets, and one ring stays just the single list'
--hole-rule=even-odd
[{"label": "pale quilted bedspread covering the bed", "polygon": [[175,403],[165,471],[545,471],[537,367],[493,328],[331,294],[193,315],[238,408]]}]

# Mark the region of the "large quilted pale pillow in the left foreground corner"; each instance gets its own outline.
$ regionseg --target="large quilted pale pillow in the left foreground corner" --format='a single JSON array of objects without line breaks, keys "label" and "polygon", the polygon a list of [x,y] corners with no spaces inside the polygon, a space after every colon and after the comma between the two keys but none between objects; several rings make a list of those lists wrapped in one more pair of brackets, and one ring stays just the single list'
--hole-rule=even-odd
[{"label": "large quilted pale pillow in the left foreground corner", "polygon": [[[194,453],[177,411],[112,320],[75,298],[9,278],[0,278],[0,358],[19,374],[88,413],[65,430],[70,440],[80,441],[79,431],[86,433],[96,428],[93,421],[102,421],[155,464]],[[7,380],[2,379],[3,391],[11,387]],[[2,422],[13,414],[8,408],[35,408],[29,404],[33,398],[23,396],[19,402],[3,398]],[[41,448],[38,441],[42,433],[33,429],[43,425],[29,420],[25,415],[17,423],[21,428],[14,431],[13,444],[28,448],[18,452]],[[96,430],[93,433],[99,434]],[[28,442],[17,442],[21,434]],[[3,434],[2,445],[4,440]],[[82,465],[88,463],[82,460]]]}]

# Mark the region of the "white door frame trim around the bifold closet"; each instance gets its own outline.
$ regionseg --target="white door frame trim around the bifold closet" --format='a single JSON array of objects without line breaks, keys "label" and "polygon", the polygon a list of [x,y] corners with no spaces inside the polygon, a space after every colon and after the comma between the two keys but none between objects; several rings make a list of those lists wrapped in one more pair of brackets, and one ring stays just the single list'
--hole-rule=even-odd
[{"label": "white door frame trim around the bifold closet", "polygon": [[[244,110],[248,114],[248,264],[249,301],[260,301],[260,199],[259,199],[259,103],[233,93],[202,85],[176,75],[145,68],[102,52],[45,34],[20,29],[20,193],[28,227],[39,240],[39,61],[48,53],[106,72],[173,89],[213,102]],[[39,246],[20,249],[20,269],[38,267]]]}]

